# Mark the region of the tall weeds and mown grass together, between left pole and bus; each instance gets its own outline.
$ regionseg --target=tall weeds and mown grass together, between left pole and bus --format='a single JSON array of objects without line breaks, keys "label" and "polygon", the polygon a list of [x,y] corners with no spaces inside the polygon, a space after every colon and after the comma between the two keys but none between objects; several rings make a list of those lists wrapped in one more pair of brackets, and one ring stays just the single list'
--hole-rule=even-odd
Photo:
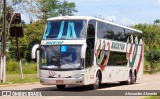
[{"label": "tall weeds and mown grass together, between left pole and bus", "polygon": [[5,84],[23,84],[23,83],[33,83],[39,82],[39,77],[37,77],[37,66],[36,62],[26,62],[22,61],[23,77],[21,79],[19,62],[15,60],[9,60],[6,62],[6,82],[0,83],[0,85]]}]

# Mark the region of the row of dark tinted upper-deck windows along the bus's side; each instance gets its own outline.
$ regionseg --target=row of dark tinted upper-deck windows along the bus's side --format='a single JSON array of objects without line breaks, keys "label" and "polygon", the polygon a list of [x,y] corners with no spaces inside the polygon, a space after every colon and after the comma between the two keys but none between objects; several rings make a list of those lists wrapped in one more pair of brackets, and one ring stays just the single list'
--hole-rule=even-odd
[{"label": "row of dark tinted upper-deck windows along the bus's side", "polygon": [[[126,42],[128,40],[128,43],[136,43],[136,39],[138,38],[140,33],[124,29],[122,27],[118,27],[115,25],[111,25],[104,22],[98,22],[97,26],[97,37],[98,38],[107,38],[117,41],[123,41]],[[137,37],[137,38],[136,38]],[[141,37],[140,37],[141,38]]]}]

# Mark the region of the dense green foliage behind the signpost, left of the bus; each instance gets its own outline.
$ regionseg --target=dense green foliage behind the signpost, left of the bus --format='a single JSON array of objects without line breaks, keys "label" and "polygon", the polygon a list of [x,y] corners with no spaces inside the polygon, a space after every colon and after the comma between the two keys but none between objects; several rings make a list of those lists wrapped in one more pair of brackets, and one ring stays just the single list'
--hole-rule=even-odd
[{"label": "dense green foliage behind the signpost, left of the bus", "polygon": [[[31,49],[34,44],[40,44],[41,37],[44,31],[44,20],[38,20],[32,24],[28,24],[24,27],[24,37],[19,39],[19,47],[21,57],[27,61],[31,61]],[[9,37],[11,42],[10,52],[8,53],[8,59],[15,59],[17,56],[16,39],[15,37]]]}]

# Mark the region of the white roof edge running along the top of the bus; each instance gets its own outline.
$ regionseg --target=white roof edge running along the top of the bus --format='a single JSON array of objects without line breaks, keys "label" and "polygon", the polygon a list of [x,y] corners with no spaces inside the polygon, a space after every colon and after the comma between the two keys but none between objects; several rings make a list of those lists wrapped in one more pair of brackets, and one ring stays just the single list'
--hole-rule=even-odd
[{"label": "white roof edge running along the top of the bus", "polygon": [[129,29],[129,30],[132,30],[132,31],[135,31],[135,32],[142,33],[142,31],[136,30],[134,28],[130,28],[130,27],[123,26],[123,25],[120,25],[120,24],[117,24],[117,23],[113,23],[113,22],[110,22],[110,21],[98,19],[98,18],[95,18],[95,17],[89,17],[89,16],[59,16],[59,17],[48,18],[47,21],[51,21],[51,20],[68,20],[68,19],[73,19],[73,20],[79,20],[79,19],[81,19],[81,20],[91,20],[91,19],[93,19],[93,20],[105,22],[105,23],[108,23],[108,24],[111,24],[111,25],[115,25],[115,26],[118,26],[118,27],[122,27],[122,28],[125,28],[125,29]]}]

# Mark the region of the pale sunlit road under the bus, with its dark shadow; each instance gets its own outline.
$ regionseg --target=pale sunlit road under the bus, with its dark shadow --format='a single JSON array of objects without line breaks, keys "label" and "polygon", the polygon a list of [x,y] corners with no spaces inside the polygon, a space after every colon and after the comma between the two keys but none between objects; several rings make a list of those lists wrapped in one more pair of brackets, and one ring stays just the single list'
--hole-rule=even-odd
[{"label": "pale sunlit road under the bus, with its dark shadow", "polygon": [[[68,86],[64,90],[57,90],[54,85],[41,85],[36,84],[24,84],[24,85],[14,85],[14,86],[0,86],[0,90],[32,90],[32,91],[47,91],[47,93],[52,92],[54,96],[43,96],[43,97],[30,97],[30,99],[138,99],[144,96],[105,96],[101,94],[105,91],[115,90],[112,92],[117,92],[116,90],[160,90],[160,74],[144,75],[142,79],[137,80],[133,85],[120,85],[118,83],[114,84],[103,84],[98,90],[90,90],[88,86]],[[98,93],[98,94],[97,94]],[[58,94],[55,96],[55,94]],[[68,94],[69,96],[64,96]],[[78,95],[78,96],[77,96]],[[85,97],[83,96],[85,95]],[[88,96],[86,96],[88,95]],[[94,95],[94,96],[93,96]],[[96,96],[98,95],[98,96]],[[73,97],[74,96],[74,97]],[[1,98],[1,97],[0,97]],[[5,99],[10,99],[11,97],[5,97]],[[22,98],[22,97],[16,97]],[[29,97],[23,97],[27,99]],[[14,99],[14,97],[12,97]]]}]

